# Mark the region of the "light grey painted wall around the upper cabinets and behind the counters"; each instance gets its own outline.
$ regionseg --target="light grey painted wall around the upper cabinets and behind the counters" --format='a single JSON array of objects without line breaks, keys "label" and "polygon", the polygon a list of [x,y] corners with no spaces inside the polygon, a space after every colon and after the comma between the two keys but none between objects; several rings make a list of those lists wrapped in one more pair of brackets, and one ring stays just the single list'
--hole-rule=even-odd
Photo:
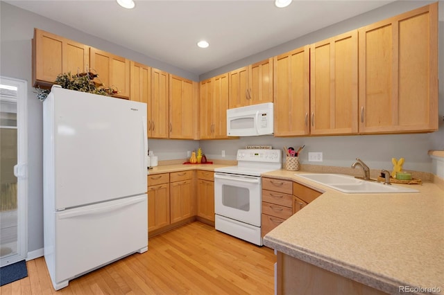
[{"label": "light grey painted wall around the upper cabinets and behind the counters", "polygon": [[[316,42],[332,35],[343,33],[363,24],[370,24],[401,12],[424,6],[431,1],[395,1],[384,8],[368,12],[340,24],[318,30],[305,37],[282,44],[269,51],[248,57],[221,69],[205,73],[200,77],[164,64],[140,53],[130,51],[123,46],[112,44],[103,39],[75,30],[56,21],[40,17],[32,12],[21,10],[8,3],[0,1],[0,75],[19,78],[28,81],[28,166],[29,166],[29,199],[28,199],[28,251],[37,251],[43,247],[43,189],[42,189],[42,103],[35,98],[31,88],[31,39],[33,28],[40,28],[51,33],[74,39],[105,51],[127,57],[142,64],[157,67],[164,71],[180,75],[191,80],[203,80],[217,73],[225,73],[240,66],[250,64],[266,57],[289,51],[298,46]],[[443,1],[440,3],[444,6]],[[443,20],[440,23],[440,46],[443,47]],[[443,50],[440,51],[440,114],[443,116]],[[298,138],[273,138],[259,136],[256,138],[240,138],[224,141],[170,141],[148,139],[150,149],[157,154],[159,160],[184,159],[187,150],[196,150],[200,145],[208,159],[235,159],[235,151],[248,144],[272,144],[281,148],[283,145],[302,145],[307,147],[302,153],[302,163],[306,163],[307,152],[323,152],[323,165],[349,166],[355,157],[361,157],[370,168],[390,168],[391,157],[404,157],[404,167],[409,170],[432,172],[432,161],[427,156],[427,150],[444,149],[444,127],[432,134],[411,135],[380,135],[380,136],[323,136]],[[221,150],[227,156],[221,158]],[[310,162],[311,163],[311,162]]]}]

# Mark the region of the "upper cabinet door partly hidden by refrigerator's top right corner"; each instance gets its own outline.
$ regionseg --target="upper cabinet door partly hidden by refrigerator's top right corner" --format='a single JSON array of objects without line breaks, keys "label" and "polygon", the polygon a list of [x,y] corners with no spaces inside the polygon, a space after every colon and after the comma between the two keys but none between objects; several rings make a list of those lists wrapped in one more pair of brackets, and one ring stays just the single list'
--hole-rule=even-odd
[{"label": "upper cabinet door partly hidden by refrigerator's top right corner", "polygon": [[131,65],[131,96],[130,100],[145,102],[146,107],[146,123],[148,137],[151,137],[151,106],[148,103],[151,101],[151,68],[144,64],[138,64],[137,62],[130,62]]}]

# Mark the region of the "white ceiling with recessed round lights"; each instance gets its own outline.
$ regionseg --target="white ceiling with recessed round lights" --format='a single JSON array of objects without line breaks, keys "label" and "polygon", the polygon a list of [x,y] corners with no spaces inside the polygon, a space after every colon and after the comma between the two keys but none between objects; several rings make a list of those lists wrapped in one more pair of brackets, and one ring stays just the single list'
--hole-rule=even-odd
[{"label": "white ceiling with recessed round lights", "polygon": [[[196,75],[207,73],[390,1],[5,1]],[[210,47],[196,46],[200,39]]]}]

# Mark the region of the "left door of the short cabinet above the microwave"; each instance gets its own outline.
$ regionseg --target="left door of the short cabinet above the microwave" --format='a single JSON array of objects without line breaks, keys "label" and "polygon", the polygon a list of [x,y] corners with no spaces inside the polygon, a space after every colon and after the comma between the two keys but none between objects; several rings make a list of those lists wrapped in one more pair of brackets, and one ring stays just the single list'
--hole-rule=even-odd
[{"label": "left door of the short cabinet above the microwave", "polygon": [[234,107],[244,107],[249,105],[250,87],[248,82],[248,66],[230,71],[228,78],[230,80],[229,105],[230,109]]}]

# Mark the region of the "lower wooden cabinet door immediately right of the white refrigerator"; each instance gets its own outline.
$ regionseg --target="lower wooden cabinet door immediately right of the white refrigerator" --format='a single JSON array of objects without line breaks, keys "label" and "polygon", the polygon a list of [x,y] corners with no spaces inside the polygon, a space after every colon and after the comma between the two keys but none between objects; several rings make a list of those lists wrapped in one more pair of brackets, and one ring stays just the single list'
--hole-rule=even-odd
[{"label": "lower wooden cabinet door immediately right of the white refrigerator", "polygon": [[148,233],[169,224],[169,184],[148,186]]}]

